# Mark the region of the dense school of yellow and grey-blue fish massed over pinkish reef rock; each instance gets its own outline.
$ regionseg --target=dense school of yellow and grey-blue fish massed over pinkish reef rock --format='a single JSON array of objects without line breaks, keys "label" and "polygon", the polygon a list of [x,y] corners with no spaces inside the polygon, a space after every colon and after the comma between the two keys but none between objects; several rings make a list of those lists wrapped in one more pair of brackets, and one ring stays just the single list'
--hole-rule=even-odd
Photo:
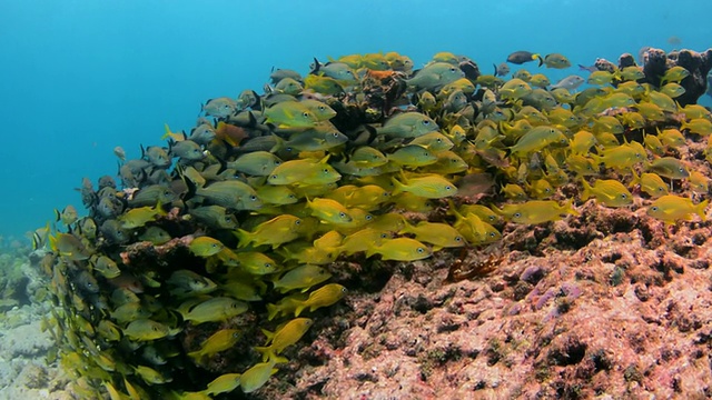
[{"label": "dense school of yellow and grey-blue fish massed over pinkish reef rock", "polygon": [[[88,217],[68,207],[66,231],[34,232],[57,304],[50,358],[82,398],[249,393],[357,289],[335,281],[336,261],[496,247],[510,223],[578,218],[589,198],[705,221],[695,166],[712,161],[712,114],[693,78],[712,60],[682,53],[696,69],[655,49],[644,67],[599,60],[580,91],[584,77],[506,80],[508,68],[481,74],[447,52],[417,71],[395,52],[354,54],[315,60],[306,77],[274,70],[263,96],[208,100],[190,133],[166,126],[167,147],[120,152],[121,189],[85,179]],[[571,66],[507,59],[534,60]]]}]

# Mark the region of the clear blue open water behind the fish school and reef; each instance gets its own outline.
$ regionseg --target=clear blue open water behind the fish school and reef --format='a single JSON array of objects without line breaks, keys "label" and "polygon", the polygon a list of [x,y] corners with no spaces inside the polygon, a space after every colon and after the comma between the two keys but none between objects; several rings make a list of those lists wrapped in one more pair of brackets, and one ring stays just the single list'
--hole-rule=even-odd
[{"label": "clear blue open water behind the fish school and reef", "polygon": [[[674,4],[0,0],[0,236],[43,226],[53,208],[80,208],[72,188],[116,174],[113,147],[139,157],[139,143],[160,143],[164,123],[191,128],[206,99],[261,93],[271,67],[306,73],[313,57],[377,51],[422,66],[452,51],[491,73],[515,50],[561,52],[575,66],[643,46],[672,50],[672,36],[683,48],[712,47],[712,2]],[[545,72],[556,80],[577,68]]]}]

